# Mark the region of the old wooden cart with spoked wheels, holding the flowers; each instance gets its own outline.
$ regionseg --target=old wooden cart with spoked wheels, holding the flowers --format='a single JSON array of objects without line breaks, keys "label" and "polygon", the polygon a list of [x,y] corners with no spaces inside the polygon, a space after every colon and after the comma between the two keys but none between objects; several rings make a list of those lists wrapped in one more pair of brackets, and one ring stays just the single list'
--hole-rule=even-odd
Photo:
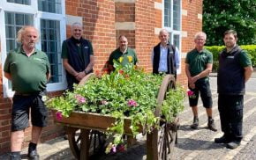
[{"label": "old wooden cart with spoked wheels, holding the flowers", "polygon": [[[92,76],[94,76],[94,74],[89,74],[84,77],[79,85],[85,84]],[[166,75],[163,77],[157,97],[158,105],[154,112],[155,117],[161,117],[162,103],[166,97],[166,93],[171,89],[175,89],[175,87],[174,76]],[[52,110],[52,113],[55,115],[56,110]],[[107,131],[107,128],[111,127],[111,124],[115,122],[115,118],[97,113],[72,112],[68,118],[63,118],[62,120],[56,120],[56,116],[54,117],[56,124],[66,127],[72,154],[80,160],[87,160],[89,158],[89,149],[92,143],[94,143],[94,148],[96,141],[97,145],[103,145],[104,139],[99,133]],[[127,142],[129,142],[129,139],[132,139],[132,131],[129,128],[130,125],[131,120],[125,119],[124,133],[130,137]],[[177,142],[177,128],[178,118],[172,122],[160,120],[160,127],[154,128],[153,132],[150,134],[147,133],[147,160],[167,160],[172,158],[174,145]],[[79,129],[80,135],[78,138],[76,132]],[[92,131],[101,132],[95,135]],[[140,131],[142,132],[142,129]]]}]

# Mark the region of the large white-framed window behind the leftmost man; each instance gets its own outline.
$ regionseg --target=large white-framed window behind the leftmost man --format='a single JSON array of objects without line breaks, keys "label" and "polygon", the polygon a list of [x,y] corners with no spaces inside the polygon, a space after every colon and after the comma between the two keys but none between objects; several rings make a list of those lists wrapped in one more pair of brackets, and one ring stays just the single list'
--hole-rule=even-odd
[{"label": "large white-framed window behind the leftmost man", "polygon": [[[17,32],[23,25],[34,25],[40,34],[36,45],[49,56],[51,78],[48,91],[66,88],[61,59],[61,44],[65,40],[64,0],[7,0],[0,4],[0,33],[2,68],[9,51],[19,47]],[[19,8],[19,10],[17,10]],[[38,10],[34,10],[38,8]],[[3,78],[4,97],[13,95],[11,82]]]}]

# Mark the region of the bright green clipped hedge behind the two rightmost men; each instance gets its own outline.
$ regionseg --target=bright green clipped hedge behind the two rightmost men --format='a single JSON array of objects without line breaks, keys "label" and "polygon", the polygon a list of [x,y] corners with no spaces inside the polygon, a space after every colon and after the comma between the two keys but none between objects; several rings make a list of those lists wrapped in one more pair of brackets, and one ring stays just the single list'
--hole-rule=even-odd
[{"label": "bright green clipped hedge behind the two rightmost men", "polygon": [[[241,45],[240,47],[247,51],[248,55],[252,60],[252,67],[256,67],[256,45]],[[224,46],[211,46],[206,48],[213,53],[213,71],[216,71],[219,66],[218,55],[220,54],[220,52],[222,52]]]}]

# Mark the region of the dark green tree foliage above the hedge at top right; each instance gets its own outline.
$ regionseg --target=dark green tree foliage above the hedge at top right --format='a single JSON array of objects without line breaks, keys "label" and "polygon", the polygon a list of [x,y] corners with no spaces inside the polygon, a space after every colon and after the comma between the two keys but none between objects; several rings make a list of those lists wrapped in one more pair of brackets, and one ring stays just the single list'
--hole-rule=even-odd
[{"label": "dark green tree foliage above the hedge at top right", "polygon": [[256,43],[255,0],[204,0],[203,31],[207,33],[207,46],[221,46],[223,33],[237,31],[240,45]]}]

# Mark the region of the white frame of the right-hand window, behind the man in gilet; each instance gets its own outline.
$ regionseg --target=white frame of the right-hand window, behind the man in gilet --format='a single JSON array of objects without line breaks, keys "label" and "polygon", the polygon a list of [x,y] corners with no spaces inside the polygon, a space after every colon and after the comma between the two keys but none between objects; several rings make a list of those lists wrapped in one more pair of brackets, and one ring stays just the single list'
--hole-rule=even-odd
[{"label": "white frame of the right-hand window, behind the man in gilet", "polygon": [[173,44],[173,42],[174,42],[174,35],[179,35],[179,47],[177,47],[178,48],[178,50],[179,50],[179,61],[180,61],[180,65],[179,65],[179,68],[177,69],[177,74],[181,74],[181,65],[182,65],[182,62],[181,62],[181,48],[182,48],[182,46],[181,46],[181,36],[182,36],[182,0],[179,0],[180,1],[180,9],[179,9],[179,11],[180,11],[180,24],[179,24],[179,26],[180,26],[180,30],[179,31],[177,31],[177,30],[174,30],[173,29],[173,0],[171,0],[170,1],[170,17],[171,17],[171,19],[170,19],[170,27],[166,27],[166,26],[164,26],[164,0],[162,1],[162,28],[164,28],[164,29],[166,29],[170,34],[169,34],[169,39],[170,39],[170,43],[171,44]]}]

